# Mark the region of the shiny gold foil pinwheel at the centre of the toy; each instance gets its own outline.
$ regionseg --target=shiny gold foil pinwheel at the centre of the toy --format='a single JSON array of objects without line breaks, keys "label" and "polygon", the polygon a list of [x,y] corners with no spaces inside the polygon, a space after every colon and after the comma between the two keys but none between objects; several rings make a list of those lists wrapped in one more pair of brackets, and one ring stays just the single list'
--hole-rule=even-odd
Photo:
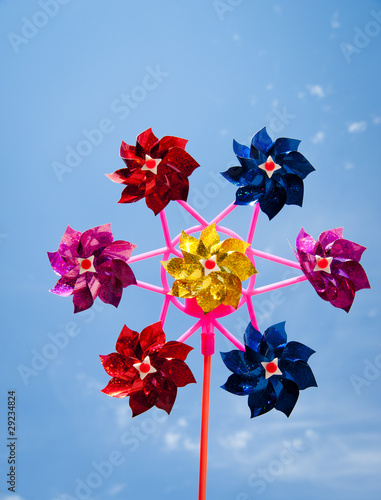
[{"label": "shiny gold foil pinwheel at the centre of the toy", "polygon": [[204,313],[213,311],[220,304],[238,307],[242,281],[257,273],[246,257],[250,246],[242,240],[228,238],[220,241],[216,225],[211,224],[196,239],[184,231],[180,249],[184,258],[162,262],[175,282],[169,292],[180,298],[196,298]]}]

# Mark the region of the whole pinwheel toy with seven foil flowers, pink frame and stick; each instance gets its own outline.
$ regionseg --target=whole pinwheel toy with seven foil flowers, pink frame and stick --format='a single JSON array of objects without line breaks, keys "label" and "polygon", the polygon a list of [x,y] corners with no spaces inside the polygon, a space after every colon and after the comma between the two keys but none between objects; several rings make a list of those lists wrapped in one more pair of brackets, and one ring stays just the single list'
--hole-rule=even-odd
[{"label": "whole pinwheel toy with seven foil flowers, pink frame and stick", "polygon": [[[201,331],[204,368],[199,500],[206,498],[215,331],[236,348],[221,354],[232,372],[223,388],[235,395],[248,396],[252,418],[271,409],[289,416],[299,392],[317,385],[308,365],[314,351],[297,341],[287,342],[284,322],[260,333],[255,297],[308,280],[321,298],[348,312],[355,293],[370,287],[359,264],[365,248],[344,239],[341,229],[323,232],[316,242],[302,229],[296,241],[296,261],[253,247],[260,210],[272,219],[285,205],[302,205],[303,179],[314,168],[297,151],[299,142],[287,138],[272,142],[265,128],[253,136],[250,147],[234,141],[233,149],[240,166],[222,175],[239,186],[236,201],[207,221],[186,201],[188,178],[199,167],[185,152],[187,141],[171,136],[159,140],[148,129],[137,137],[135,146],[122,142],[120,155],[126,167],[108,177],[124,185],[120,203],[145,198],[147,206],[159,215],[165,246],[131,255],[135,245],[113,241],[109,225],[84,233],[68,227],[58,251],[48,254],[54,271],[61,276],[51,291],[62,296],[73,295],[75,313],[91,307],[96,297],[117,307],[123,288],[130,285],[162,295],[163,306],[157,323],[142,325],[140,334],[123,326],[116,352],[101,355],[102,365],[111,377],[103,392],[115,398],[129,398],[133,417],[153,406],[170,413],[177,389],[195,382],[185,363],[192,348],[184,342]],[[179,203],[196,222],[176,236],[170,233],[164,210],[170,201]],[[222,225],[225,217],[239,205],[248,206],[239,210],[252,210],[245,238]],[[135,279],[130,266],[158,257],[161,286]],[[302,272],[290,279],[256,287],[257,258]],[[173,279],[171,285],[168,276]],[[130,290],[125,293],[130,294],[131,301]],[[194,318],[193,325],[176,341],[167,341],[163,330],[170,306]],[[248,317],[243,343],[222,324],[222,318],[241,308],[246,308]]]}]

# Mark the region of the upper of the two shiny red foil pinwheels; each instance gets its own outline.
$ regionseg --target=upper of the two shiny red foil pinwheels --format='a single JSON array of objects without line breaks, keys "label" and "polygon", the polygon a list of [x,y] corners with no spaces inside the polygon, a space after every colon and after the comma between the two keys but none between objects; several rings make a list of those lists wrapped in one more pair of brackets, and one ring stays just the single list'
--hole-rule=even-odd
[{"label": "upper of the two shiny red foil pinwheels", "polygon": [[136,146],[122,142],[120,156],[127,168],[107,177],[125,184],[119,203],[134,203],[145,197],[157,215],[171,200],[186,201],[188,177],[199,164],[184,149],[186,139],[165,136],[158,139],[149,128],[138,135]]}]

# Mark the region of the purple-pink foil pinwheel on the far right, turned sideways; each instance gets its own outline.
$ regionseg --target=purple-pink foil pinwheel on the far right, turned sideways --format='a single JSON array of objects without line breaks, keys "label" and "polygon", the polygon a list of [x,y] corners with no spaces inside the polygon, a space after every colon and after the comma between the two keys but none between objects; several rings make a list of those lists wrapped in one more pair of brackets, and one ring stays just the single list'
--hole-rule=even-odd
[{"label": "purple-pink foil pinwheel on the far right, turned sideways", "polygon": [[343,238],[343,228],[321,233],[318,240],[302,228],[296,239],[296,256],[318,295],[349,312],[355,293],[370,288],[359,264],[365,247]]}]

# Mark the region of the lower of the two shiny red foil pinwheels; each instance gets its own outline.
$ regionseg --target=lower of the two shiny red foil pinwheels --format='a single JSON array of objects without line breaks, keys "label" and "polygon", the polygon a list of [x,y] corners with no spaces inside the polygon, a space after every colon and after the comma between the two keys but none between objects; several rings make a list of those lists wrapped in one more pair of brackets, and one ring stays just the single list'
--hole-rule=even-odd
[{"label": "lower of the two shiny red foil pinwheels", "polygon": [[182,342],[165,342],[161,321],[140,335],[124,326],[117,352],[100,356],[103,368],[113,377],[102,392],[114,398],[130,396],[133,417],[153,406],[169,414],[177,388],[196,382],[184,363],[192,349]]}]

